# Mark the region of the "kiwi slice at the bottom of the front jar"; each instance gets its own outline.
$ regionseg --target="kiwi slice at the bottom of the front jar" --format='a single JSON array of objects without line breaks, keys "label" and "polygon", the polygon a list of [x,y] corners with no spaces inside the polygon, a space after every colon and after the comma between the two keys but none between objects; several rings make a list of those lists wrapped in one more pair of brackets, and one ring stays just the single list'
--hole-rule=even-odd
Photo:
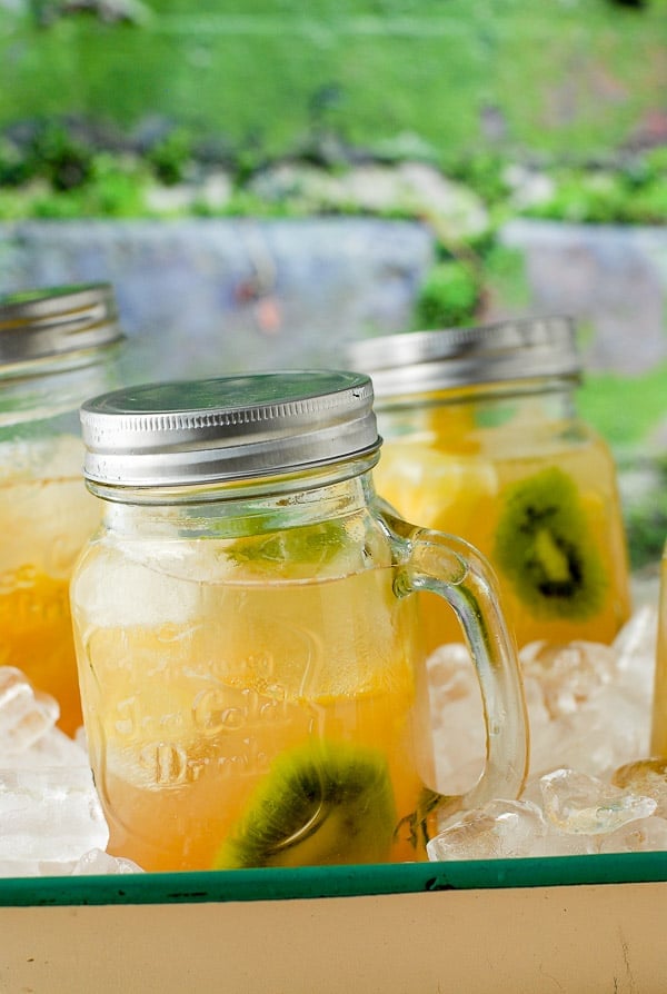
[{"label": "kiwi slice at the bottom of the front jar", "polygon": [[384,755],[318,742],[275,761],[215,868],[381,863],[395,825]]}]

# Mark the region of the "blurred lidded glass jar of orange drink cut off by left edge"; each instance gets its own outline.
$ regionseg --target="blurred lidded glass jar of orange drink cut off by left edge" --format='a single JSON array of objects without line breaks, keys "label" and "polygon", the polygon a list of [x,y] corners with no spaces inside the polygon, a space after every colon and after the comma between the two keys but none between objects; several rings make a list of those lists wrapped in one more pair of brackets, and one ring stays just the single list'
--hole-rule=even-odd
[{"label": "blurred lidded glass jar of orange drink cut off by left edge", "polygon": [[81,725],[68,586],[94,530],[79,406],[115,385],[122,336],[106,284],[0,298],[0,664]]}]

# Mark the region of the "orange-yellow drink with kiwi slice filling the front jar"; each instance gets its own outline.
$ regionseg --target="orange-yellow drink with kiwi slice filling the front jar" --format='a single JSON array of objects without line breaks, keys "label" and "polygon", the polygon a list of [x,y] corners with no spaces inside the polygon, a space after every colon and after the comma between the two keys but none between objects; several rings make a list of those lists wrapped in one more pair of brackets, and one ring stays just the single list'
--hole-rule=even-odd
[{"label": "orange-yellow drink with kiwi slice filling the front jar", "polygon": [[[189,579],[202,556],[211,576]],[[331,568],[267,580],[215,540],[169,563],[89,550],[72,597],[110,852],[147,869],[425,858],[415,598],[391,568]]]}]

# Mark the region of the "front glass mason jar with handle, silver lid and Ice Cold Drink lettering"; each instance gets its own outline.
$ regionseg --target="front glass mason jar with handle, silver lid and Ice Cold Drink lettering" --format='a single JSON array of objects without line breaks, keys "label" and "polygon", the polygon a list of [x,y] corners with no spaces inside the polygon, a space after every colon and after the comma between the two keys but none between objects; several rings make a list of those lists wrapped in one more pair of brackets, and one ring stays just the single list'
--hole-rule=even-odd
[{"label": "front glass mason jar with handle, silver lid and Ice Cold Drink lettering", "polygon": [[[520,676],[486,564],[385,514],[367,377],[145,385],[81,410],[104,519],[72,617],[110,852],[147,869],[422,859],[434,825],[516,796]],[[437,793],[417,598],[454,606],[488,756]]]}]

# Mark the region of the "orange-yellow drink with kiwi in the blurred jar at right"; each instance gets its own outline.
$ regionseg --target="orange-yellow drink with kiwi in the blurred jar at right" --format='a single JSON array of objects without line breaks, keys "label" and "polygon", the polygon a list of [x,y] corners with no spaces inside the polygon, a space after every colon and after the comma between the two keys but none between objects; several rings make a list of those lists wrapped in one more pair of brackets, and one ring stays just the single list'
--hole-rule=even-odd
[{"label": "orange-yellow drink with kiwi in the blurred jar at right", "polygon": [[[479,415],[479,411],[477,412]],[[388,436],[378,493],[404,517],[467,539],[500,580],[519,646],[534,639],[610,643],[630,613],[615,468],[604,441],[518,407],[485,425],[475,405],[425,412]],[[425,595],[427,647],[460,640]]]}]

